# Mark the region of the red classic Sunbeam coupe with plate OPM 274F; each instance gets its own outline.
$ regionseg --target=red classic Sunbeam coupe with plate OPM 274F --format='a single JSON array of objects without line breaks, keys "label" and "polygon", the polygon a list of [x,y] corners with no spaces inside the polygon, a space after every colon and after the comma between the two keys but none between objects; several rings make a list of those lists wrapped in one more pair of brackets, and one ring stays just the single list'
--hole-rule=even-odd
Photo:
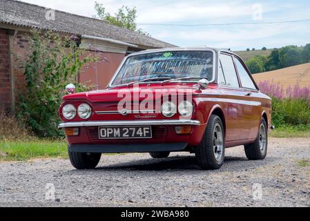
[{"label": "red classic Sunbeam coupe with plate OPM 274F", "polygon": [[225,148],[244,145],[249,160],[267,155],[271,99],[230,50],[167,48],[128,55],[106,90],[63,97],[59,115],[76,169],[101,153],[195,153],[220,169]]}]

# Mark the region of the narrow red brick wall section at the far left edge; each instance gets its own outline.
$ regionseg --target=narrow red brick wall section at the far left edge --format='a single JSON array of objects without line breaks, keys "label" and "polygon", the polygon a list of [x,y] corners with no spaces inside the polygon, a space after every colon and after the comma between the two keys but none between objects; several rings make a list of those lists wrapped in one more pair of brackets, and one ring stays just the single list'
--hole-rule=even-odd
[{"label": "narrow red brick wall section at the far left edge", "polygon": [[0,108],[12,111],[9,35],[0,28]]}]

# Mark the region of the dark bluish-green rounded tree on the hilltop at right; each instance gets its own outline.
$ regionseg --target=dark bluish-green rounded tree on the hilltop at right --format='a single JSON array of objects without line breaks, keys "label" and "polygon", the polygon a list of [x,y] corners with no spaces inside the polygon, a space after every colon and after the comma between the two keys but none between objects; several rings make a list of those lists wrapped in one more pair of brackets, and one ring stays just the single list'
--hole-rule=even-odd
[{"label": "dark bluish-green rounded tree on the hilltop at right", "polygon": [[300,49],[297,46],[286,46],[280,49],[280,68],[296,66],[302,63]]}]

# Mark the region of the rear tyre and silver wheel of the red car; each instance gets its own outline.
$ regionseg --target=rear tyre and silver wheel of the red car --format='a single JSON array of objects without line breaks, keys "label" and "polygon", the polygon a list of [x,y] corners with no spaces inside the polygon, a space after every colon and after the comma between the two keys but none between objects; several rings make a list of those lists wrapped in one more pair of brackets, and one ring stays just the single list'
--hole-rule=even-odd
[{"label": "rear tyre and silver wheel of the red car", "polygon": [[244,145],[244,152],[249,160],[264,160],[267,155],[268,129],[264,118],[260,122],[258,137],[252,144]]}]

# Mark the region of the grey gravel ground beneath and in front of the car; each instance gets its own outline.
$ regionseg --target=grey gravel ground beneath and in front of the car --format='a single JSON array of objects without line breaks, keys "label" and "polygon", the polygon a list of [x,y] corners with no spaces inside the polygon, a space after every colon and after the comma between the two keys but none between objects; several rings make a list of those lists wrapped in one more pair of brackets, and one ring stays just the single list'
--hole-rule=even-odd
[{"label": "grey gravel ground beneath and in front of the car", "polygon": [[188,153],[103,155],[90,171],[68,160],[2,162],[0,206],[310,206],[307,160],[310,139],[271,138],[266,160],[229,148],[218,171],[199,170]]}]

